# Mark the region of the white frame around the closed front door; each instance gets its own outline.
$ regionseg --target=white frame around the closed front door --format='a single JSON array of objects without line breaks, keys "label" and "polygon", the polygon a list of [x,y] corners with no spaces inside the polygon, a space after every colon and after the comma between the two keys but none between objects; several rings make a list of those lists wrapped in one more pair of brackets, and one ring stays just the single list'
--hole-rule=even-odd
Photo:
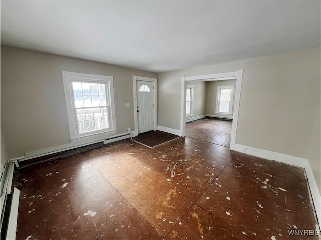
[{"label": "white frame around the closed front door", "polygon": [[157,78],[144,77],[144,76],[132,76],[132,86],[134,92],[134,118],[135,118],[135,134],[138,136],[138,114],[137,114],[137,81],[150,81],[153,82],[153,91],[154,91],[154,131],[158,130],[157,122]]}]

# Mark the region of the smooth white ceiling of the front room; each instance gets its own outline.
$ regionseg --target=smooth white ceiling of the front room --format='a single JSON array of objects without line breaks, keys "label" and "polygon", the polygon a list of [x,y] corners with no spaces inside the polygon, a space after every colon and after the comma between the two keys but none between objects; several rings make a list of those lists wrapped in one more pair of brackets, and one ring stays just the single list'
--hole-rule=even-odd
[{"label": "smooth white ceiling of the front room", "polygon": [[1,1],[1,44],[164,72],[320,45],[321,1]]}]

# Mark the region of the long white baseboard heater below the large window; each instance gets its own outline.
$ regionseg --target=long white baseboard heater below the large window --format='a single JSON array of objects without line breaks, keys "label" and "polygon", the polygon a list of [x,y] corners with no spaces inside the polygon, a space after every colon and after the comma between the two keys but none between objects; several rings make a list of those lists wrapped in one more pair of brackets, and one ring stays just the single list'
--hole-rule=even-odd
[{"label": "long white baseboard heater below the large window", "polygon": [[92,139],[90,140],[85,140],[85,141],[79,141],[79,142],[72,142],[72,143],[68,143],[68,144],[63,144],[63,145],[59,145],[59,146],[54,146],[54,147],[48,147],[48,148],[44,148],[44,149],[40,149],[40,150],[35,150],[35,151],[30,151],[30,152],[26,152],[24,157],[17,157],[14,159],[10,159],[10,162],[14,162],[17,161],[26,161],[29,159],[33,159],[36,157],[41,157],[41,156],[47,156],[50,154],[55,154],[55,153],[59,153],[62,151],[67,151],[67,150],[71,150],[74,148],[78,148],[78,147],[83,147],[83,146],[87,146],[87,145],[91,145],[91,144],[95,144],[95,143],[99,143],[99,142],[104,142],[104,144],[108,144],[111,142],[115,142],[115,141],[120,141],[123,139],[127,139],[127,138],[131,138],[133,136],[133,132],[127,132],[127,133],[123,133],[123,134],[119,134],[119,135],[114,135],[114,136],[105,136],[105,137],[100,137],[97,139]]}]

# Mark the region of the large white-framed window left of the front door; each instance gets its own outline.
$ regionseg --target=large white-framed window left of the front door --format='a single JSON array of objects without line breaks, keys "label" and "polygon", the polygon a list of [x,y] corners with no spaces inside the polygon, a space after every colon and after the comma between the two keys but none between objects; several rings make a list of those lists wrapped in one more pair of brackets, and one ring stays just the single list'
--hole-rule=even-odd
[{"label": "large white-framed window left of the front door", "polygon": [[62,71],[70,138],[116,133],[113,77]]}]

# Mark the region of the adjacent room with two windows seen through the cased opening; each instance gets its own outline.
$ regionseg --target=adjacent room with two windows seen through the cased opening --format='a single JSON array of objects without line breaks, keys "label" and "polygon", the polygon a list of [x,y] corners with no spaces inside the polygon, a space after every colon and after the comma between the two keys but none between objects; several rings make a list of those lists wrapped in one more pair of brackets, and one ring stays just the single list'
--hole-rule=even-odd
[{"label": "adjacent room with two windows seen through the cased opening", "polygon": [[185,107],[187,137],[230,147],[235,85],[236,79],[224,78],[188,82]]}]

